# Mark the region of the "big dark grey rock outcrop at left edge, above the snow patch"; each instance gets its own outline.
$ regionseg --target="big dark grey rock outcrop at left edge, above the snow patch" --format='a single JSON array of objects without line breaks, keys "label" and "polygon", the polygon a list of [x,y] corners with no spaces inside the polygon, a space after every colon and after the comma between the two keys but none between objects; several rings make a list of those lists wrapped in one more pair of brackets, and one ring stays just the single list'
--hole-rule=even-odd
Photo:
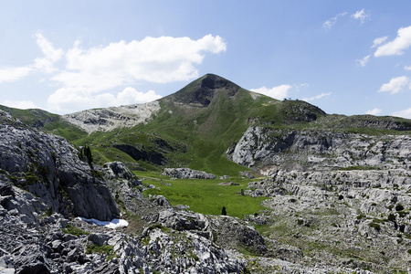
[{"label": "big dark grey rock outcrop at left edge, above the snow patch", "polygon": [[111,220],[119,210],[100,173],[65,139],[27,128],[1,111],[0,171],[14,184],[64,216]]}]

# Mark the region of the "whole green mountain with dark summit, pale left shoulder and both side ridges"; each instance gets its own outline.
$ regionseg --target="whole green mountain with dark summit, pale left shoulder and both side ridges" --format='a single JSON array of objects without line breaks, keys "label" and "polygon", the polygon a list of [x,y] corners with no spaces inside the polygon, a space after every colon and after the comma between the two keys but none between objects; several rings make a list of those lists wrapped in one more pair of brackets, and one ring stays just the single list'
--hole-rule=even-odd
[{"label": "whole green mountain with dark summit, pale left shoulder and both side ridges", "polygon": [[98,163],[120,160],[132,169],[190,167],[216,174],[247,169],[245,161],[230,159],[250,127],[266,128],[271,135],[331,131],[329,138],[332,132],[373,135],[411,131],[411,121],[406,119],[330,115],[305,101],[274,100],[213,74],[146,104],[63,116],[39,110],[8,111],[26,124],[62,135],[76,145],[90,144]]}]

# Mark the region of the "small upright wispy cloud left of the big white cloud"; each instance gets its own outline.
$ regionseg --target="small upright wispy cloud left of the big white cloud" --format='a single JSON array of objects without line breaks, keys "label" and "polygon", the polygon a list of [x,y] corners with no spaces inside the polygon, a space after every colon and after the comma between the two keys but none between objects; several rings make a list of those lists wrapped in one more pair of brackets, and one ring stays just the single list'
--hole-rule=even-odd
[{"label": "small upright wispy cloud left of the big white cloud", "polygon": [[37,32],[36,37],[37,46],[40,47],[41,52],[43,52],[44,58],[36,58],[33,67],[46,73],[55,72],[57,68],[54,68],[54,63],[63,57],[63,49],[54,48],[53,44],[48,42],[39,32]]}]

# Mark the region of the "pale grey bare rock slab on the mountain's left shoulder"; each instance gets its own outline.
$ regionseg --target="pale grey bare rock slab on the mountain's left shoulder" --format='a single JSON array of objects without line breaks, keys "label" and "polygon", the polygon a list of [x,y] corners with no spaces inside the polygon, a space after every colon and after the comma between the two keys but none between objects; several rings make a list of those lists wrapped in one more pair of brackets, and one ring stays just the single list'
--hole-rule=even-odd
[{"label": "pale grey bare rock slab on the mountain's left shoulder", "polygon": [[85,132],[110,132],[117,128],[132,128],[153,120],[160,111],[158,101],[106,109],[79,111],[61,116],[63,121],[78,126]]}]

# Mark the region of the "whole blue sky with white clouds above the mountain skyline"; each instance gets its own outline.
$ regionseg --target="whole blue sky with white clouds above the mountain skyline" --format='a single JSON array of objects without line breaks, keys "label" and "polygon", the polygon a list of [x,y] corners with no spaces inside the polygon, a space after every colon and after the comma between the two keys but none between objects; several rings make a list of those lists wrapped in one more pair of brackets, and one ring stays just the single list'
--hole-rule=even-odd
[{"label": "whole blue sky with white clouds above the mountain skyline", "polygon": [[206,73],[328,113],[411,119],[411,1],[0,0],[0,104],[65,114]]}]

